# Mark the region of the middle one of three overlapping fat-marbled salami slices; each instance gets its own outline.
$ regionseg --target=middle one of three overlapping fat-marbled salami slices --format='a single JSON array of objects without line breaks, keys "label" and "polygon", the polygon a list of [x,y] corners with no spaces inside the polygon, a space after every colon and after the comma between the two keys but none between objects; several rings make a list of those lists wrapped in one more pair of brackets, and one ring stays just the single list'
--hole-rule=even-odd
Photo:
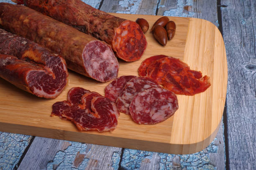
[{"label": "middle one of three overlapping fat-marbled salami slices", "polygon": [[116,105],[120,112],[129,115],[129,105],[139,92],[159,85],[149,77],[135,77],[128,81],[116,100]]}]

